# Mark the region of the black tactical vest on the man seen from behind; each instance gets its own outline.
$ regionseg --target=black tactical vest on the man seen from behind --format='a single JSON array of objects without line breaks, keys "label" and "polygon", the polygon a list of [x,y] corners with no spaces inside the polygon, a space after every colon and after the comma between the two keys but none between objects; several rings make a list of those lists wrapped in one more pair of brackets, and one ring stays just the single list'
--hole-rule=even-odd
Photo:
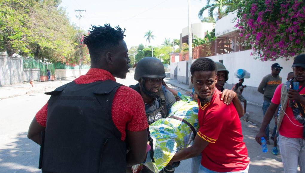
[{"label": "black tactical vest on the man seen from behind", "polygon": [[120,85],[110,80],[70,82],[45,93],[51,98],[42,134],[43,172],[126,172],[126,143],[111,116]]}]

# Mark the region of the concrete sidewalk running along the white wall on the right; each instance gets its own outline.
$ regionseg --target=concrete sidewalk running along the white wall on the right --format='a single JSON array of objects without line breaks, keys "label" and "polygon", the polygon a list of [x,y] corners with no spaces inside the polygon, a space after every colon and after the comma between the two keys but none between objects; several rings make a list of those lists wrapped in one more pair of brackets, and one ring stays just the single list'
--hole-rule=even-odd
[{"label": "concrete sidewalk running along the white wall on the right", "polygon": [[[192,89],[188,88],[188,85],[183,84],[181,82],[178,82],[177,80],[174,79],[170,79],[170,78],[165,78],[164,81],[172,86],[175,86],[179,89],[181,89],[180,91],[182,91],[182,94],[190,94],[192,93]],[[263,102],[263,101],[262,101]],[[243,105],[243,103],[242,103]],[[243,116],[241,119],[247,121],[248,123],[252,124],[252,125],[256,125],[258,127],[261,126],[261,123],[263,121],[263,109],[262,107],[259,105],[254,105],[250,102],[247,102],[247,112],[249,112],[249,115],[245,115]],[[269,125],[269,130],[272,133],[273,128],[275,126],[274,123],[274,119],[271,120],[271,123]],[[271,134],[270,134],[271,137]]]}]

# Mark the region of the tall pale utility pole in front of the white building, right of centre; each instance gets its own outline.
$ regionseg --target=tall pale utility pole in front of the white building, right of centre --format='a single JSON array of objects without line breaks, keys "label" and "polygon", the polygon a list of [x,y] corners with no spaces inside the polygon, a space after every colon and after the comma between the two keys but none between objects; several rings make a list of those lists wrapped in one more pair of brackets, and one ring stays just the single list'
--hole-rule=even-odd
[{"label": "tall pale utility pole in front of the white building, right of centre", "polygon": [[192,65],[192,22],[191,22],[191,0],[188,0],[188,88],[193,88],[193,84],[191,83],[191,65]]}]

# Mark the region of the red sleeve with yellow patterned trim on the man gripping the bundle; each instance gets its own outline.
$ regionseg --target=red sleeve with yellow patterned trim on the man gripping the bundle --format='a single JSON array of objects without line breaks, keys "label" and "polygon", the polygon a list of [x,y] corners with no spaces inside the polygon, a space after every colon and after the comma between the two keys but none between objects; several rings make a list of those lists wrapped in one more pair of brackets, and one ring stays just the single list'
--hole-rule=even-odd
[{"label": "red sleeve with yellow patterned trim on the man gripping the bundle", "polygon": [[197,134],[204,140],[215,143],[221,130],[231,121],[231,116],[224,116],[224,112],[231,115],[231,110],[219,111],[219,108],[207,112],[203,119],[203,126],[199,127]]}]

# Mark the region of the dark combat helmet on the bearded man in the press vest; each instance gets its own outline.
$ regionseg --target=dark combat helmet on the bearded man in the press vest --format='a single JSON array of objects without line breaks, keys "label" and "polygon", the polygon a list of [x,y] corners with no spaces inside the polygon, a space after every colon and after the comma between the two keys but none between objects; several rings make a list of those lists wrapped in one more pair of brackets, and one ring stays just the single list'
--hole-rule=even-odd
[{"label": "dark combat helmet on the bearded man in the press vest", "polygon": [[165,78],[165,70],[163,63],[154,57],[145,57],[138,62],[135,68],[134,79],[136,81],[141,78]]}]

